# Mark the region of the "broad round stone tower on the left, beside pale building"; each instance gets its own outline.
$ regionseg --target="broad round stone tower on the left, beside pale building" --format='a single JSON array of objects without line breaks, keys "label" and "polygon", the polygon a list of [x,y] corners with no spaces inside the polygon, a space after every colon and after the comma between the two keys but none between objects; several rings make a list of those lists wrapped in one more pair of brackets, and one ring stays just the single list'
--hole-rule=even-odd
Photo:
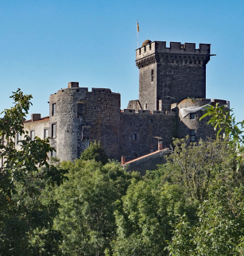
[{"label": "broad round stone tower on the left, beside pale building", "polygon": [[[56,104],[56,115],[52,106]],[[68,87],[49,98],[50,127],[56,124],[51,145],[61,160],[74,160],[98,140],[111,158],[118,158],[120,95],[110,89]],[[52,129],[51,129],[52,130]],[[51,132],[52,133],[52,132]]]}]

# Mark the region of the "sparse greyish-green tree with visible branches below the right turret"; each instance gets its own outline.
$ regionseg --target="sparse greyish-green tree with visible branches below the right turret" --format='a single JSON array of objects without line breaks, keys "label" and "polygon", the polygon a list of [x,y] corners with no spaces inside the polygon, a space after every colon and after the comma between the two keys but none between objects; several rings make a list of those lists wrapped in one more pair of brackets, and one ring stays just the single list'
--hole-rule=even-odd
[{"label": "sparse greyish-green tree with visible branches below the right turret", "polygon": [[[227,141],[199,141],[188,143],[188,138],[175,139],[173,148],[167,163],[159,167],[162,178],[184,188],[188,200],[203,202],[207,196],[207,188],[212,179],[215,169],[225,169],[227,175],[233,175],[234,159],[229,157],[234,153]],[[240,182],[243,181],[244,173],[238,173]]]}]

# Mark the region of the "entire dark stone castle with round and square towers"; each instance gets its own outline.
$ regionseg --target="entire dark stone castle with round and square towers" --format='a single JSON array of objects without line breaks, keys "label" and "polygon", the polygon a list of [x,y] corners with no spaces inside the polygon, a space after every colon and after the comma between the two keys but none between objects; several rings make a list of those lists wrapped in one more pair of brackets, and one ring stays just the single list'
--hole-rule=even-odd
[{"label": "entire dark stone castle with round and square towers", "polygon": [[[101,142],[111,159],[127,161],[157,150],[172,138],[189,135],[192,142],[215,138],[206,122],[199,122],[202,107],[208,103],[228,104],[206,99],[206,65],[211,45],[145,41],[136,50],[139,68],[139,99],[130,100],[121,110],[120,94],[107,88],[79,87],[68,83],[49,97],[49,116],[32,114],[24,122],[32,138],[50,138],[56,156],[74,161],[91,141]],[[17,146],[21,140],[17,136]]]}]

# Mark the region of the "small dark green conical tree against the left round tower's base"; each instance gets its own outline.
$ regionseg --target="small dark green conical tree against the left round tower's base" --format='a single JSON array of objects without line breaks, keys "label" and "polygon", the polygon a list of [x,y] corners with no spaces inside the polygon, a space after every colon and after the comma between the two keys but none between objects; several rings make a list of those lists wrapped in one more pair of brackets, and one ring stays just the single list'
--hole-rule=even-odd
[{"label": "small dark green conical tree against the left round tower's base", "polygon": [[95,160],[101,161],[105,165],[108,161],[107,154],[105,153],[103,147],[100,145],[100,142],[91,142],[87,149],[81,153],[82,160]]}]

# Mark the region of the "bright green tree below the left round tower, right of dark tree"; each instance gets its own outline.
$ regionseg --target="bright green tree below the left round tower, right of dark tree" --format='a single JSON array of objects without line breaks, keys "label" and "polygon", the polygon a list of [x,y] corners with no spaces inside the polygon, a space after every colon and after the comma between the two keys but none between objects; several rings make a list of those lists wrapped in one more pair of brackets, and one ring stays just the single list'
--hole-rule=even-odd
[{"label": "bright green tree below the left round tower, right of dark tree", "polygon": [[56,189],[61,204],[56,228],[64,231],[64,255],[104,255],[116,235],[114,202],[126,194],[137,173],[126,173],[118,163],[95,160],[62,162],[68,181]]}]

